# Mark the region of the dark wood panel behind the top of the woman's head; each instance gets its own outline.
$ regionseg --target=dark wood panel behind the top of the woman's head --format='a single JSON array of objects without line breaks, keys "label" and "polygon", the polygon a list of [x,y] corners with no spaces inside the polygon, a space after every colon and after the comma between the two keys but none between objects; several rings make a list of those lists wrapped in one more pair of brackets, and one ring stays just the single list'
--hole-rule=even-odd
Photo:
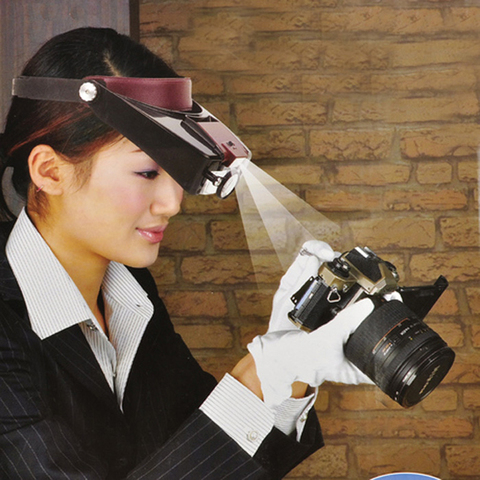
[{"label": "dark wood panel behind the top of the woman's head", "polygon": [[112,27],[137,37],[138,0],[0,1],[1,130],[12,78],[46,40],[82,26]]}]

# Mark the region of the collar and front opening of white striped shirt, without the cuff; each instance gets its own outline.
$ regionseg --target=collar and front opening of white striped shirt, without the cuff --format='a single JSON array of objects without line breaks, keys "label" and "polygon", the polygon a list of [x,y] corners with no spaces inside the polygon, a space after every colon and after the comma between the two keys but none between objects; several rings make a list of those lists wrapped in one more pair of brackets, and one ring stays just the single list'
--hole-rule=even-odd
[{"label": "collar and front opening of white striped shirt, without the cuff", "polygon": [[[145,291],[123,265],[110,263],[102,284],[107,338],[25,210],[10,234],[6,253],[25,298],[33,331],[45,339],[79,324],[121,405],[135,352],[153,314]],[[39,278],[48,281],[39,282]],[[55,309],[51,308],[52,302]]]}]

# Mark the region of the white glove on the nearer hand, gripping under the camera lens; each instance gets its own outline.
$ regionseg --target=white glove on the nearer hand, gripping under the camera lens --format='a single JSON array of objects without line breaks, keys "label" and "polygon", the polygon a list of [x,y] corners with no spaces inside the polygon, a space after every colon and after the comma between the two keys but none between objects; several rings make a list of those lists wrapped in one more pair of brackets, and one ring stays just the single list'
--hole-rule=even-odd
[{"label": "white glove on the nearer hand, gripping under the camera lens", "polygon": [[350,335],[372,312],[369,298],[342,310],[317,330],[286,330],[259,335],[248,345],[255,360],[264,402],[275,408],[292,394],[292,383],[317,387],[324,381],[356,385],[373,382],[343,352]]}]

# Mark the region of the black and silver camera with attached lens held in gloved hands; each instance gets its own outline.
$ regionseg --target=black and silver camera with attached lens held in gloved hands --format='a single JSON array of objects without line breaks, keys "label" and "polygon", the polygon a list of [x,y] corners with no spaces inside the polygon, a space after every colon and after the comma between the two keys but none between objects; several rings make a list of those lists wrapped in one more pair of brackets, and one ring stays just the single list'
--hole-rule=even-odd
[{"label": "black and silver camera with attached lens held in gloved hands", "polygon": [[[455,353],[423,319],[447,288],[440,276],[433,285],[401,287],[396,267],[367,247],[356,247],[321,265],[292,297],[290,320],[313,331],[364,297],[373,312],[346,343],[345,356],[383,392],[403,407],[423,400],[443,380]],[[385,296],[398,292],[400,300]],[[392,298],[398,295],[392,295]]]}]

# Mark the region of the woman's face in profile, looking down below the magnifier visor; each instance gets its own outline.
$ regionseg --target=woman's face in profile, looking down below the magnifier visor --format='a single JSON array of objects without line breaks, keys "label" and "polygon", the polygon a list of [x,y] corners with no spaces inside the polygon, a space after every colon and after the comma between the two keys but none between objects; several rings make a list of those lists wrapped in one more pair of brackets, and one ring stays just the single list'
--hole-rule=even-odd
[{"label": "woman's face in profile, looking down below the magnifier visor", "polygon": [[87,182],[80,188],[71,182],[55,209],[63,248],[87,261],[151,265],[180,210],[182,188],[127,139],[100,150],[93,162]]}]

